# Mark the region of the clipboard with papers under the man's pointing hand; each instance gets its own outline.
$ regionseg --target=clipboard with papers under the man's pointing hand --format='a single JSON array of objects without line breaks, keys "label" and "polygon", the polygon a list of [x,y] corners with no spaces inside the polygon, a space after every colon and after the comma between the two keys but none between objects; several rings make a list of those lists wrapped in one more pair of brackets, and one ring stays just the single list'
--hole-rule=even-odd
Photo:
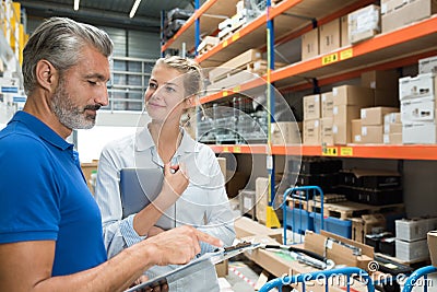
[{"label": "clipboard with papers under the man's pointing hand", "polygon": [[181,279],[188,275],[194,273],[197,271],[200,271],[209,266],[218,264],[225,259],[232,258],[238,254],[241,254],[246,250],[251,250],[255,248],[260,247],[260,244],[252,244],[252,243],[248,243],[248,242],[244,242],[244,243],[239,243],[235,246],[229,246],[229,247],[222,247],[222,248],[217,248],[216,250],[212,252],[212,253],[206,253],[200,257],[198,257],[194,260],[191,260],[189,264],[180,266],[177,269],[174,269],[169,272],[160,275],[155,278],[150,279],[146,282],[143,282],[141,284],[138,284],[135,287],[132,287],[128,290],[126,290],[125,292],[134,292],[134,291],[139,291],[141,289],[145,289],[145,288],[155,288],[168,282],[173,282],[176,281],[178,279]]}]

